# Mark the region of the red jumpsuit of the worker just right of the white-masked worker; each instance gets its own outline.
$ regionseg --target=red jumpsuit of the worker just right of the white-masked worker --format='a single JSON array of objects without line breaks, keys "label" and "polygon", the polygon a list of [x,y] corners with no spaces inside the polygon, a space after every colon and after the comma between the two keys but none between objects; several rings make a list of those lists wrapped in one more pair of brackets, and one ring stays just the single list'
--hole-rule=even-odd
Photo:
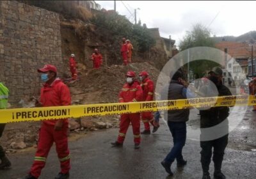
[{"label": "red jumpsuit of the worker just right of the white-masked worker", "polygon": [[[154,82],[147,77],[143,79],[141,87],[143,89],[143,101],[152,101],[154,97]],[[141,113],[141,119],[144,123],[145,130],[150,130],[149,122],[154,126],[152,112]]]}]

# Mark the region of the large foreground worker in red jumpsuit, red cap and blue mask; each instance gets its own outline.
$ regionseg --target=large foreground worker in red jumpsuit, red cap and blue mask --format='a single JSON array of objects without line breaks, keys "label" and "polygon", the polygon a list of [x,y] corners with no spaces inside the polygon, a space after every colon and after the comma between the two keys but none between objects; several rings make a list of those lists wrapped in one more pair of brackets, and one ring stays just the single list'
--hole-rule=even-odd
[{"label": "large foreground worker in red jumpsuit, red cap and blue mask", "polygon": [[[36,107],[70,105],[70,91],[68,87],[56,77],[57,69],[53,65],[45,65],[38,69],[44,86],[41,89],[40,101],[36,101]],[[49,114],[52,116],[54,114]],[[56,179],[69,178],[70,155],[68,150],[68,120],[44,120],[40,127],[37,151],[29,175],[24,179],[35,179],[41,174],[45,166],[47,155],[53,143],[56,144],[56,152],[60,160],[61,171]]]}]

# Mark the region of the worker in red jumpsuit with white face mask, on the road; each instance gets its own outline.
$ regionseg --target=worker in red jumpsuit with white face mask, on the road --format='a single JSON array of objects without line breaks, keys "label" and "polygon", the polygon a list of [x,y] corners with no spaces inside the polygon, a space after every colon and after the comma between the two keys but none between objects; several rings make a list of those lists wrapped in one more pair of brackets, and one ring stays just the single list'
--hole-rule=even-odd
[{"label": "worker in red jumpsuit with white face mask, on the road", "polygon": [[[126,83],[119,93],[119,102],[139,102],[141,101],[143,91],[140,82],[136,81],[135,73],[130,71],[126,74]],[[132,123],[132,131],[134,136],[134,148],[140,148],[140,113],[121,114],[120,130],[117,141],[111,143],[113,146],[123,146],[125,134]]]}]

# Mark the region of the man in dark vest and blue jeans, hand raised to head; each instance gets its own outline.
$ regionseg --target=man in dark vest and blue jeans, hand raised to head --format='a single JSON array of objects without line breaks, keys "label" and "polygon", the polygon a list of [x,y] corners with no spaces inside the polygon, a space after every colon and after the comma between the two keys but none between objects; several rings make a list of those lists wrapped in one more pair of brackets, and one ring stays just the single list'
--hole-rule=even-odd
[{"label": "man in dark vest and blue jeans, hand raised to head", "polygon": [[[191,92],[187,87],[188,84],[182,80],[182,72],[178,70],[172,76],[168,87],[164,88],[164,90],[166,90],[165,93],[168,93],[168,100],[178,100],[187,97],[190,98],[189,94],[191,94]],[[161,96],[163,97],[163,94]],[[186,143],[186,121],[188,121],[188,119],[189,109],[168,111],[168,127],[173,137],[173,148],[161,164],[170,175],[173,175],[171,165],[175,159],[177,160],[177,167],[182,167],[187,164],[187,161],[182,157],[182,148]]]}]

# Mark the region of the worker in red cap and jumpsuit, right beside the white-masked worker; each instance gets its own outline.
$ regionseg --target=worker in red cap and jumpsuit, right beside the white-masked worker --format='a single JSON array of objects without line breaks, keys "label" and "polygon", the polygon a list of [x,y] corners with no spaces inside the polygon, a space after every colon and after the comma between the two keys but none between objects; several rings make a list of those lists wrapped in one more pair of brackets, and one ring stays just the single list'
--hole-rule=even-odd
[{"label": "worker in red cap and jumpsuit, right beside the white-masked worker", "polygon": [[[154,98],[154,82],[148,77],[148,72],[140,73],[141,88],[143,89],[143,101],[152,101]],[[150,134],[150,125],[154,127],[152,132],[156,132],[159,125],[154,125],[154,116],[152,112],[141,113],[141,119],[144,123],[145,130],[141,134]]]}]

